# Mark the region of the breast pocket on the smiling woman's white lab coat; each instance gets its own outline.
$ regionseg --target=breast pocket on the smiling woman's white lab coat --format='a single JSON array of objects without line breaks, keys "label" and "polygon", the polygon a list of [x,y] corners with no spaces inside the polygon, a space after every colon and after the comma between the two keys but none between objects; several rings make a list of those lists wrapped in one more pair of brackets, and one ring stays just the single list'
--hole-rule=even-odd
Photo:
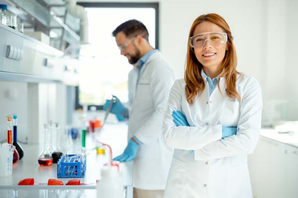
[{"label": "breast pocket on the smiling woman's white lab coat", "polygon": [[221,124],[226,127],[236,127],[240,116],[238,100],[224,100],[221,113]]}]

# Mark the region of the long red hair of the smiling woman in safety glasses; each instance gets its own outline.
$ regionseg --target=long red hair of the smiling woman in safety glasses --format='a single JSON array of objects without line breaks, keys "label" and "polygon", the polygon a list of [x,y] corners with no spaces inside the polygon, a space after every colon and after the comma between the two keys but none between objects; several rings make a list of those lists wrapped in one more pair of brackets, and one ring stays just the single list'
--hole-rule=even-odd
[{"label": "long red hair of the smiling woman in safety glasses", "polygon": [[[232,34],[229,26],[227,25],[224,18],[218,14],[210,13],[203,14],[196,18],[193,22],[190,32],[189,38],[194,36],[194,30],[200,23],[204,21],[212,22],[219,27],[221,27],[224,32],[227,34],[227,49],[225,51],[223,66],[224,71],[221,74],[221,77],[225,77],[225,92],[227,96],[231,99],[238,99],[240,101],[240,96],[236,91],[236,79],[238,71],[236,71],[237,66],[237,54],[233,44]],[[190,46],[190,40],[187,43],[187,55],[186,55],[186,70],[184,74],[184,79],[186,82],[185,92],[186,98],[189,104],[194,103],[194,99],[197,95],[202,94],[205,89],[205,81],[201,75],[201,71],[203,69],[203,65],[197,60],[196,55],[194,54],[193,49]],[[220,89],[220,79],[218,81],[218,88],[222,94]]]}]

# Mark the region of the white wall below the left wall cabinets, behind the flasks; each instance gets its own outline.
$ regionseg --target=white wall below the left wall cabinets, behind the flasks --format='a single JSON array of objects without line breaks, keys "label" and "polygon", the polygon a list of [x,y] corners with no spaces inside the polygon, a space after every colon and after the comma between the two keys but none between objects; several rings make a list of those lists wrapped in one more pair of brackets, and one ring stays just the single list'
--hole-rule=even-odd
[{"label": "white wall below the left wall cabinets, behind the flasks", "polygon": [[43,124],[49,120],[66,125],[66,91],[63,84],[0,81],[0,141],[7,139],[6,115],[17,113],[18,140],[43,142]]}]

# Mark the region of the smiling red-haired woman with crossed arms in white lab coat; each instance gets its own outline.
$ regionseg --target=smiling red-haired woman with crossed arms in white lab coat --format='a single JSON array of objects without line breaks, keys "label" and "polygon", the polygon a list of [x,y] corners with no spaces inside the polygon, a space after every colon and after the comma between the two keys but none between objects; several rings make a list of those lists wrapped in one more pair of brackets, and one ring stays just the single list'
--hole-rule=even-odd
[{"label": "smiling red-haired woman with crossed arms in white lab coat", "polygon": [[185,76],[171,89],[163,121],[174,148],[164,198],[252,198],[247,154],[260,134],[260,86],[236,71],[223,17],[199,16],[189,37]]}]

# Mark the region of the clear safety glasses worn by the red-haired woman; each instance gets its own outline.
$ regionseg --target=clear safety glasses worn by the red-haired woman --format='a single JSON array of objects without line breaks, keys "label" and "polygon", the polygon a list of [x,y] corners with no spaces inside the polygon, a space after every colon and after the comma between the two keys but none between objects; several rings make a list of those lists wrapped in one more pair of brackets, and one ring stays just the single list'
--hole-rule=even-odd
[{"label": "clear safety glasses worn by the red-haired woman", "polygon": [[209,41],[212,46],[220,46],[226,43],[227,34],[224,32],[205,32],[189,39],[192,48],[201,48],[205,46],[206,41]]}]

